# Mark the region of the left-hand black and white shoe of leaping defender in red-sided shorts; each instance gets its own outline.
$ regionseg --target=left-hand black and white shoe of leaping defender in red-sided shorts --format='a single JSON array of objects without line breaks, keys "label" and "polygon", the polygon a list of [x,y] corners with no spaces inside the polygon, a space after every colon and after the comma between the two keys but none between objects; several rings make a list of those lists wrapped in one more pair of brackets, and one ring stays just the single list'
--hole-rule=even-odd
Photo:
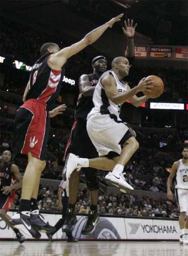
[{"label": "left-hand black and white shoe of leaping defender in red-sided shorts", "polygon": [[31,225],[30,222],[30,211],[22,211],[15,214],[11,219],[10,223],[15,228],[23,231],[28,236],[33,236],[34,238],[40,238],[41,234],[39,231]]}]

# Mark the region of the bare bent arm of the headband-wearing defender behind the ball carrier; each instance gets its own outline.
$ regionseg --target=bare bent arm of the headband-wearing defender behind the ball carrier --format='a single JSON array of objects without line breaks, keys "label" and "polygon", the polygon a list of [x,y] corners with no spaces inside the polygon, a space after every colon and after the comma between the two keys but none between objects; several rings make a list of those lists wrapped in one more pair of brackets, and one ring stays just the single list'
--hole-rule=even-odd
[{"label": "bare bent arm of the headband-wearing defender behind the ball carrier", "polygon": [[84,96],[92,96],[95,86],[91,86],[88,75],[81,75],[79,78],[79,92]]}]

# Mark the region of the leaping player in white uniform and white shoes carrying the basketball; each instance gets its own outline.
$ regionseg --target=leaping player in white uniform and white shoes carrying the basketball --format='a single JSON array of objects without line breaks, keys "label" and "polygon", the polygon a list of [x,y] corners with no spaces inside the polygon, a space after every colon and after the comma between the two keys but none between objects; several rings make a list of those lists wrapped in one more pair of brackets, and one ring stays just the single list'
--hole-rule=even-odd
[{"label": "leaping player in white uniform and white shoes carrying the basketball", "polygon": [[[129,75],[129,60],[116,57],[112,61],[112,70],[101,75],[95,87],[94,108],[87,117],[87,131],[99,158],[78,158],[69,154],[64,167],[64,178],[68,179],[74,169],[92,167],[104,171],[112,171],[105,180],[125,191],[132,191],[123,175],[124,166],[139,148],[135,132],[119,118],[121,105],[130,100],[135,106],[148,100],[147,96],[137,97],[139,91],[150,91],[153,87],[150,79],[143,78],[133,89],[123,81]],[[159,95],[158,95],[159,96]]]}]

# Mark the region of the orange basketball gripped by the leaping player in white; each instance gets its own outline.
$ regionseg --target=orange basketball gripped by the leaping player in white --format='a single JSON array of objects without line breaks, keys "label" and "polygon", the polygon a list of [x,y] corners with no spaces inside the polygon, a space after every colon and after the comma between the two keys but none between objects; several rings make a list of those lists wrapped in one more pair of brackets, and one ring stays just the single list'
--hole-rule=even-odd
[{"label": "orange basketball gripped by the leaping player in white", "polygon": [[153,88],[149,89],[149,90],[151,90],[151,92],[144,93],[144,94],[153,99],[157,98],[160,94],[163,93],[163,90],[164,90],[163,80],[160,77],[158,77],[157,75],[149,75],[146,77],[146,79],[147,78],[152,79],[151,85],[153,85]]}]

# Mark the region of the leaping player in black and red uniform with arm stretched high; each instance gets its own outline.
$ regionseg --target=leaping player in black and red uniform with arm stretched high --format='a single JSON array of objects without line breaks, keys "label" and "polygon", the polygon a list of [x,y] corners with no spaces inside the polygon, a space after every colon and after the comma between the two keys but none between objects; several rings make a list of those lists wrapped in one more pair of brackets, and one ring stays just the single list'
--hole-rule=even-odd
[{"label": "leaping player in black and red uniform with arm stretched high", "polygon": [[[24,93],[25,103],[20,106],[15,118],[15,155],[28,156],[28,165],[23,177],[19,213],[12,217],[11,224],[35,238],[39,231],[53,232],[54,227],[45,223],[37,207],[40,176],[45,168],[45,148],[49,135],[49,117],[62,111],[60,106],[49,112],[59,94],[66,61],[86,46],[94,43],[109,27],[119,21],[123,14],[92,30],[79,42],[62,50],[54,43],[46,43],[40,49],[41,57],[32,67],[30,80]],[[30,212],[31,210],[31,212]]]}]

